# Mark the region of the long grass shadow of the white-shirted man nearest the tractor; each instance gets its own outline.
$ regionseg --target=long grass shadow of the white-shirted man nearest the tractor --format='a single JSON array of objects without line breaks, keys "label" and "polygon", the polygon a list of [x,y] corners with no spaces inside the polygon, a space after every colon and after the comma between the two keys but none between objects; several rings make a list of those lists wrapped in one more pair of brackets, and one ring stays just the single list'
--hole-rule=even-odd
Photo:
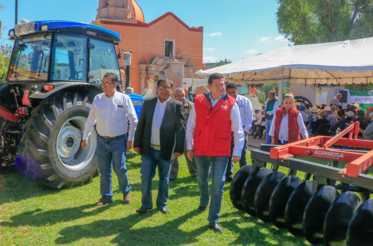
[{"label": "long grass shadow of the white-shirted man nearest the tractor", "polygon": [[41,212],[41,209],[35,209],[12,216],[10,217],[12,221],[11,223],[3,222],[2,225],[9,227],[19,227],[20,225],[53,225],[59,222],[72,221],[87,216],[97,215],[98,213],[102,213],[112,206],[115,206],[115,203],[99,207],[95,206],[94,204],[90,204],[79,207],[69,207],[66,209],[48,210],[44,212]]}]

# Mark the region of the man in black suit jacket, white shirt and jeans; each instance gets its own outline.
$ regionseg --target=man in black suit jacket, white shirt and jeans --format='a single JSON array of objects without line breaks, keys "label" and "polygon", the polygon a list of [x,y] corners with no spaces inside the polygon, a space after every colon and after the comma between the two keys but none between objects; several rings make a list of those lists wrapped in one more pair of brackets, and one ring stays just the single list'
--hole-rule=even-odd
[{"label": "man in black suit jacket, white shirt and jeans", "polygon": [[184,151],[185,118],[184,105],[170,98],[173,82],[168,78],[158,80],[158,96],[145,99],[134,139],[134,150],[141,154],[141,192],[142,205],[137,213],[145,213],[153,208],[151,180],[158,166],[159,185],[157,209],[168,213],[170,169],[173,159]]}]

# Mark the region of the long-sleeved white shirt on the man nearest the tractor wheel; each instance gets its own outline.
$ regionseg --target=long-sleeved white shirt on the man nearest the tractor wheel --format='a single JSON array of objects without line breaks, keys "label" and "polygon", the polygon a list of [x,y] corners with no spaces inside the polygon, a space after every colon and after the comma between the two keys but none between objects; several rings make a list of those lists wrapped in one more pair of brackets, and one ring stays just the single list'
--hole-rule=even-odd
[{"label": "long-sleeved white shirt on the man nearest the tractor wheel", "polygon": [[101,136],[120,136],[128,130],[128,140],[134,141],[137,116],[131,98],[117,91],[111,98],[108,98],[105,93],[95,96],[84,125],[83,140],[88,139],[94,124],[97,133]]}]

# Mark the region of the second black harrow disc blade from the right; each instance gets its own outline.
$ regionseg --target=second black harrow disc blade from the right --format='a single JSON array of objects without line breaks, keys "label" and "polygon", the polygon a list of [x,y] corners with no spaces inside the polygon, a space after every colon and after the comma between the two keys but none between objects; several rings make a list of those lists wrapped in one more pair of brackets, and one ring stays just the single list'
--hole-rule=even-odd
[{"label": "second black harrow disc blade from the right", "polygon": [[342,193],[335,199],[325,217],[325,245],[346,245],[348,224],[360,205],[359,197],[351,191]]}]

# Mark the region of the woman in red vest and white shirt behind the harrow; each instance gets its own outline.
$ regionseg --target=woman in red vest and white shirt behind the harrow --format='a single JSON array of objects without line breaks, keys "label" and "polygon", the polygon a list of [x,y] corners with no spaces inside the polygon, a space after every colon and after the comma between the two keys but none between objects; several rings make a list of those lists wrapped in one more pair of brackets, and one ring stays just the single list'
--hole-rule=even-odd
[{"label": "woman in red vest and white shirt behind the harrow", "polygon": [[282,145],[299,141],[299,133],[302,134],[303,138],[308,138],[302,116],[294,108],[294,96],[286,94],[282,102],[283,107],[276,110],[269,130],[269,135],[272,137],[271,144]]}]

